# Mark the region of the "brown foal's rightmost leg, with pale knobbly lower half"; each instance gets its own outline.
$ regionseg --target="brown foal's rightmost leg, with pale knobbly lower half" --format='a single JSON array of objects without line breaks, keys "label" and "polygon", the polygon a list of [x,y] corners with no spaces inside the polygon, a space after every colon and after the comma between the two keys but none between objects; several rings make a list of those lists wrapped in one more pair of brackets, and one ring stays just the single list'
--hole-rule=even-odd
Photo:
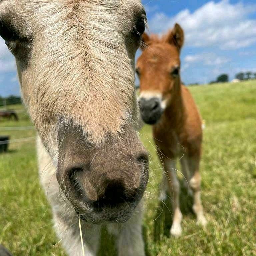
[{"label": "brown foal's rightmost leg, with pale knobbly lower half", "polygon": [[200,157],[189,157],[189,168],[191,173],[191,179],[189,181],[189,185],[193,191],[194,203],[193,203],[193,211],[197,217],[197,223],[205,226],[207,224],[207,220],[204,217],[203,206],[201,202],[201,175],[199,173],[199,163]]}]

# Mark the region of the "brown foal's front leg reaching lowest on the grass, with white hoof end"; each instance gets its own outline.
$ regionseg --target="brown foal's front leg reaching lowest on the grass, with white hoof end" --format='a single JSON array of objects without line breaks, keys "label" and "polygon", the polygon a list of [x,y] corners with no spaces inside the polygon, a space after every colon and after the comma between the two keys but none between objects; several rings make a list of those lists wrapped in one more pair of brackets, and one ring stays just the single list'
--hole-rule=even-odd
[{"label": "brown foal's front leg reaching lowest on the grass, with white hoof end", "polygon": [[163,157],[163,165],[164,165],[164,173],[167,178],[169,193],[172,200],[172,208],[173,208],[173,223],[170,230],[170,233],[173,236],[180,236],[182,229],[181,229],[181,221],[182,221],[182,214],[180,211],[180,184],[177,179],[176,173],[176,161],[170,160],[166,157]]}]

